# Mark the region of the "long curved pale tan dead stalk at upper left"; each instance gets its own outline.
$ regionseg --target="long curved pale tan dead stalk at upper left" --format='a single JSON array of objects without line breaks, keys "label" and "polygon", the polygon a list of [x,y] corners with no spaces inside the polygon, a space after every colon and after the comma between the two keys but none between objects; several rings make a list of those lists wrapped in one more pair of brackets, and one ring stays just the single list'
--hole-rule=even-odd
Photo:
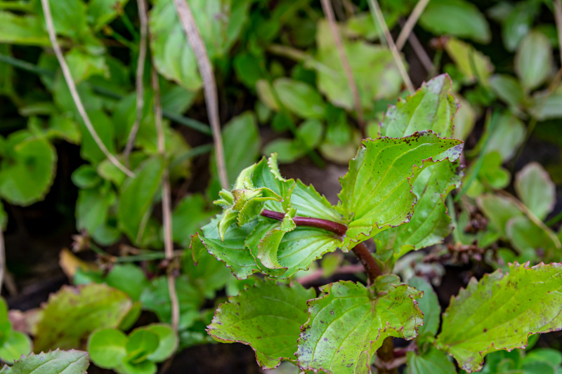
[{"label": "long curved pale tan dead stalk at upper left", "polygon": [[119,170],[121,170],[123,173],[129,175],[129,177],[134,178],[135,173],[123,166],[122,163],[120,163],[119,160],[117,160],[117,158],[115,158],[115,156],[111,154],[109,149],[107,149],[107,147],[105,147],[105,144],[103,144],[98,133],[96,133],[96,129],[93,128],[90,118],[86,113],[86,109],[84,109],[84,105],[82,104],[82,101],[80,99],[80,95],[78,94],[78,91],[76,89],[76,84],[74,84],[74,80],[72,79],[72,74],[70,74],[70,69],[68,68],[68,65],[65,61],[63,51],[61,51],[60,46],[58,45],[55,25],[53,25],[53,15],[51,14],[51,6],[49,6],[48,0],[41,0],[41,5],[43,6],[43,13],[45,15],[48,37],[51,40],[51,45],[53,46],[53,50],[55,51],[60,69],[63,70],[63,76],[65,77],[66,84],[68,86],[68,89],[70,90],[70,95],[72,95],[72,100],[74,100],[74,104],[78,109],[82,121],[84,121],[84,124],[86,125],[86,128],[88,129],[93,140],[96,142],[98,147],[100,147],[101,151],[103,152],[103,154],[105,154],[107,159],[109,159],[110,162],[117,166],[117,168],[119,168]]}]

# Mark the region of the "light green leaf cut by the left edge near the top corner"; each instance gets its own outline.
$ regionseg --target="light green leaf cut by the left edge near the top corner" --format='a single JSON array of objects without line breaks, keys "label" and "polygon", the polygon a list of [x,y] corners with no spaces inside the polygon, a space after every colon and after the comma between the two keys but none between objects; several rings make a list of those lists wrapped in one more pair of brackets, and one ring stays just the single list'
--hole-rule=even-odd
[{"label": "light green leaf cut by the left edge near the top corner", "polygon": [[0,11],[0,42],[29,46],[50,46],[48,34],[36,15],[15,15]]}]

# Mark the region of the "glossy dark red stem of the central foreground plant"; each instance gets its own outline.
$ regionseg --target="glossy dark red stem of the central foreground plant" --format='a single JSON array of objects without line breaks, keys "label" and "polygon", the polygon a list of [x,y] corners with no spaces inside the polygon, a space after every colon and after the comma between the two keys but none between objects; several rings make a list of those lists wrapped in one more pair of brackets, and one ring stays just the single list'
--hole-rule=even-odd
[{"label": "glossy dark red stem of the central foreground plant", "polygon": [[[273,218],[274,220],[283,220],[285,214],[280,212],[268,211],[264,209],[261,212],[263,217]],[[338,234],[339,236],[344,236],[347,232],[347,226],[342,225],[338,222],[333,222],[330,220],[322,220],[322,218],[312,218],[312,217],[294,217],[293,222],[297,226],[310,226],[310,227],[318,227],[319,229],[325,229],[329,232],[333,232],[334,234]],[[369,283],[374,283],[374,280],[377,279],[377,276],[381,275],[381,269],[377,262],[374,260],[373,256],[367,249],[364,243],[358,243],[355,247],[351,249],[355,256],[361,262],[361,265],[365,267],[365,272],[369,276]]]}]

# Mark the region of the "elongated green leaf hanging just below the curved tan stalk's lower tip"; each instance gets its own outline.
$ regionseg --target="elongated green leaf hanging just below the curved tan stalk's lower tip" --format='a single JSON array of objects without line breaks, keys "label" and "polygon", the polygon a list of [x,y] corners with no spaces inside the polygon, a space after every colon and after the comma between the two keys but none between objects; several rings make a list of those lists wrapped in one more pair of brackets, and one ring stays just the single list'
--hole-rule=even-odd
[{"label": "elongated green leaf hanging just below the curved tan stalk's lower tip", "polygon": [[136,168],[136,178],[126,180],[119,193],[117,220],[133,243],[141,241],[141,222],[152,208],[164,171],[162,157],[153,156]]}]

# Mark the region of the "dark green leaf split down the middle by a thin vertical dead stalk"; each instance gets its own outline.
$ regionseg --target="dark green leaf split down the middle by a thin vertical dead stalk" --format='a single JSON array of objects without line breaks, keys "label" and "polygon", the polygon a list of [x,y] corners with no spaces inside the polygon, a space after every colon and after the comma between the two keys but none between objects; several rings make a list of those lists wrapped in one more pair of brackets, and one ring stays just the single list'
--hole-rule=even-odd
[{"label": "dark green leaf split down the middle by a thin vertical dead stalk", "polygon": [[[191,285],[187,276],[176,278],[176,292],[180,307],[179,328],[185,329],[191,326],[199,314],[199,309],[203,305],[203,296]],[[171,301],[166,276],[154,279],[152,284],[143,290],[141,302],[143,309],[155,312],[160,321],[171,323]]]}]

